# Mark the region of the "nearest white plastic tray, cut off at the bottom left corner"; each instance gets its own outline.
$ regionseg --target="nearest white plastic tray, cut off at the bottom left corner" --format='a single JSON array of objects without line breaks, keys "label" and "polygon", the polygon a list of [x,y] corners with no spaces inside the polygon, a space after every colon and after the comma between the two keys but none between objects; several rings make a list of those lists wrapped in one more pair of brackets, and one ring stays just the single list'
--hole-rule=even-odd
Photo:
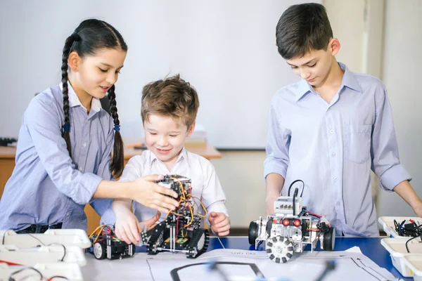
[{"label": "nearest white plastic tray, cut off at the bottom left corner", "polygon": [[[23,268],[24,266],[8,266],[6,263],[0,263],[0,281],[9,280],[12,273],[15,273]],[[69,281],[84,280],[81,269],[76,263],[37,263],[34,265],[34,268],[39,270],[39,272],[43,275],[43,280],[47,280],[53,276],[63,276]],[[40,280],[39,273],[32,269],[25,269],[20,273],[13,274],[12,277],[15,278],[15,280],[23,280],[23,277],[25,277],[25,280],[27,281]],[[63,280],[63,278],[57,278],[57,280]]]}]

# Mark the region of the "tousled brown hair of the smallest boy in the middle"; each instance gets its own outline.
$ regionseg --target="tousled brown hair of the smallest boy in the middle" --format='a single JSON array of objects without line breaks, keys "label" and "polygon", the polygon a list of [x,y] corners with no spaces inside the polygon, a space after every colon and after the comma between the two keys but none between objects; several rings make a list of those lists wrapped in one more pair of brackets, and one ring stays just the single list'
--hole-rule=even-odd
[{"label": "tousled brown hair of the smallest boy in the middle", "polygon": [[170,116],[191,127],[198,113],[198,93],[179,74],[164,80],[153,81],[142,90],[142,122],[148,115]]}]

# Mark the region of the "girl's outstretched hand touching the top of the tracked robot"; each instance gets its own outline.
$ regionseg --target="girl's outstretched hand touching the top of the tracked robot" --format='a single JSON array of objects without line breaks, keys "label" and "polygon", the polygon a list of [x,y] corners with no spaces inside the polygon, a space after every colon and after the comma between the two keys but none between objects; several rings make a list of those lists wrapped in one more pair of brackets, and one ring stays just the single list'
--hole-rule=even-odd
[{"label": "girl's outstretched hand touching the top of the tracked robot", "polygon": [[176,207],[179,207],[179,202],[166,195],[177,198],[177,193],[169,188],[163,188],[158,183],[153,183],[153,181],[158,181],[161,178],[162,176],[151,175],[136,179],[130,198],[143,204],[143,206],[163,213],[167,213],[170,209],[176,209]]}]

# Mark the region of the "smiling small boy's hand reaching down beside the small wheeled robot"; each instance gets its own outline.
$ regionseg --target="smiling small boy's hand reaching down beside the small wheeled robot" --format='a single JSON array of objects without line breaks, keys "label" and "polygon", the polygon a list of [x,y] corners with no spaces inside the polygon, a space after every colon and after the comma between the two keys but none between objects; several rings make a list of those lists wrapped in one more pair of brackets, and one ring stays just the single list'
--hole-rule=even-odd
[{"label": "smiling small boy's hand reaching down beside the small wheeled robot", "polygon": [[138,244],[140,240],[139,233],[145,230],[145,228],[146,230],[153,228],[160,219],[160,216],[160,211],[157,211],[155,216],[139,223],[138,218],[136,218],[132,211],[119,211],[116,214],[115,234],[119,239],[127,242],[127,244]]}]

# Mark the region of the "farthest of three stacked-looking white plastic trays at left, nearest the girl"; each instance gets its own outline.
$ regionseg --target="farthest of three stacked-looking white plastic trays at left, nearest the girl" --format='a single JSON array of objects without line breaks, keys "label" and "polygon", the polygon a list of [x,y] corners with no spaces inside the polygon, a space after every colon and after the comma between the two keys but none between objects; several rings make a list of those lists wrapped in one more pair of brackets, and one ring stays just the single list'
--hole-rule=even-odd
[{"label": "farthest of three stacked-looking white plastic trays at left, nearest the girl", "polygon": [[91,247],[87,233],[82,229],[49,229],[45,233],[15,233],[0,230],[0,244],[17,247],[37,247],[38,245],[63,244],[82,249]]}]

